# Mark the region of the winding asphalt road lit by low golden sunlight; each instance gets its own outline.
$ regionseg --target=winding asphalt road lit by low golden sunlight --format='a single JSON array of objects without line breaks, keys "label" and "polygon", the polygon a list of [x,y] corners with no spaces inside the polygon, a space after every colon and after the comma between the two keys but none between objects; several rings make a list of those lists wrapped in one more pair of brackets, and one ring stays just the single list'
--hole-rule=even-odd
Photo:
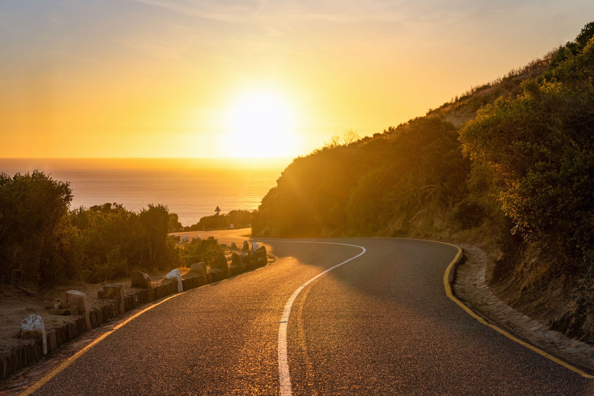
[{"label": "winding asphalt road lit by low golden sunlight", "polygon": [[[213,234],[220,242],[245,239]],[[406,239],[318,241],[366,252],[303,287],[293,302],[286,334],[293,394],[594,393],[592,380],[480,324],[446,296],[443,275],[456,248]],[[34,394],[279,394],[287,300],[362,249],[289,240],[266,246],[279,256],[274,264],[143,313]]]}]

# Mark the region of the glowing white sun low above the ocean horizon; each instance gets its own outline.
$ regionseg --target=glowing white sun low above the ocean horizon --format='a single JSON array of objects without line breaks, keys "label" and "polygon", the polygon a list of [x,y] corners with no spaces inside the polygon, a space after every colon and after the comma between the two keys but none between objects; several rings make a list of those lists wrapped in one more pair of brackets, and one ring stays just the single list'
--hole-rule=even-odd
[{"label": "glowing white sun low above the ocean horizon", "polygon": [[298,152],[295,116],[269,91],[251,92],[229,109],[223,147],[229,157],[287,157]]}]

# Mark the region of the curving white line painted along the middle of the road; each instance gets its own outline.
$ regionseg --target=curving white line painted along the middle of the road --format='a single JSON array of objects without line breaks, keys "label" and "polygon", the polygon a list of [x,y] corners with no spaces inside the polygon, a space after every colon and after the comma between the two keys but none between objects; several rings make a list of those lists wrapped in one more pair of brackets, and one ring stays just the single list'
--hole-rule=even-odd
[{"label": "curving white line painted along the middle of the road", "polygon": [[303,290],[304,287],[307,286],[309,283],[313,282],[314,280],[321,277],[322,275],[329,273],[330,271],[334,270],[334,268],[340,267],[341,265],[346,264],[347,262],[354,260],[354,259],[358,258],[359,256],[362,256],[363,254],[365,254],[366,249],[363,246],[359,246],[359,245],[349,245],[348,243],[336,243],[336,242],[312,242],[312,241],[308,241],[308,240],[274,240],[274,241],[268,241],[268,242],[321,243],[324,245],[353,246],[355,248],[360,248],[362,250],[362,252],[359,253],[358,255],[353,256],[353,257],[349,258],[348,260],[341,262],[340,264],[336,264],[336,265],[334,265],[334,267],[328,268],[323,273],[315,275],[315,277],[311,278],[310,280],[308,280],[307,282],[305,282],[304,284],[299,286],[297,288],[297,290],[295,290],[295,292],[292,294],[292,296],[290,296],[289,300],[285,304],[285,310],[283,311],[283,315],[280,317],[280,326],[279,326],[279,347],[278,347],[278,350],[279,350],[279,384],[280,384],[280,395],[281,396],[291,396],[293,394],[293,391],[291,389],[291,379],[289,376],[289,357],[287,356],[287,325],[289,322],[289,315],[291,313],[291,307],[293,306],[293,302],[295,301],[295,299],[297,298],[297,296],[299,295],[301,290]]}]

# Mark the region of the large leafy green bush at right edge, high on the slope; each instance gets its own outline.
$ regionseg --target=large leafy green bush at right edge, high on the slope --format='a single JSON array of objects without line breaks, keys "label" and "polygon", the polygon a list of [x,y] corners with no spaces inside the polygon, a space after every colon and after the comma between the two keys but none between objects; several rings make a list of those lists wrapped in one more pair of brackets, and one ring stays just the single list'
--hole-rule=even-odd
[{"label": "large leafy green bush at right edge, high on the slope", "polygon": [[594,41],[551,80],[526,80],[460,130],[465,153],[489,167],[500,209],[526,240],[579,255],[594,240]]}]

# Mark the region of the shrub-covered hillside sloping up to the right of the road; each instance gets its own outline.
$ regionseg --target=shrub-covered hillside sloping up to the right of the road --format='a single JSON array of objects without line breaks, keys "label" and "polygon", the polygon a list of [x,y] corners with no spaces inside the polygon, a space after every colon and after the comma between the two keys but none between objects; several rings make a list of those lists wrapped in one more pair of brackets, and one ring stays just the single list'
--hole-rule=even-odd
[{"label": "shrub-covered hillside sloping up to the right of the road", "polygon": [[592,342],[593,36],[589,23],[425,116],[296,158],[263,198],[254,235],[481,245],[508,303]]}]

